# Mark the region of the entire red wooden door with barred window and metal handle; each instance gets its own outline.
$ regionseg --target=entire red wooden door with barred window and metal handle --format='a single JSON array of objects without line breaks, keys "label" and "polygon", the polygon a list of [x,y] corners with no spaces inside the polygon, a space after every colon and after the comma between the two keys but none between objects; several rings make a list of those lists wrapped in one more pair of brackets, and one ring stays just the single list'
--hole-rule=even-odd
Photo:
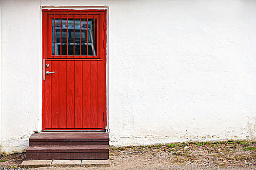
[{"label": "entire red wooden door with barred window and metal handle", "polygon": [[43,10],[43,130],[106,126],[106,11]]}]

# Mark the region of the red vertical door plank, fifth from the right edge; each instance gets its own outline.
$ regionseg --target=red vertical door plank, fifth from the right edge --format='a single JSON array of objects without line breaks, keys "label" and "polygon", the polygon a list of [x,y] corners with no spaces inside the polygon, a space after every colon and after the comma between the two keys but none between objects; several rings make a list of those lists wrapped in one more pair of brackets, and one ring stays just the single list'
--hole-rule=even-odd
[{"label": "red vertical door plank, fifth from the right edge", "polygon": [[67,128],[74,128],[74,61],[67,61]]}]

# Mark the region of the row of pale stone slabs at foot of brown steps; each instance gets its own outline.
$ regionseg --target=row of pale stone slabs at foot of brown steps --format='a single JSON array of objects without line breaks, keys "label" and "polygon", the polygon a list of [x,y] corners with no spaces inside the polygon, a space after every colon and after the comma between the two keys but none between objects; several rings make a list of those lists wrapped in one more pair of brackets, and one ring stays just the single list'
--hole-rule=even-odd
[{"label": "row of pale stone slabs at foot of brown steps", "polygon": [[108,160],[31,160],[23,161],[20,168],[38,167],[109,167]]}]

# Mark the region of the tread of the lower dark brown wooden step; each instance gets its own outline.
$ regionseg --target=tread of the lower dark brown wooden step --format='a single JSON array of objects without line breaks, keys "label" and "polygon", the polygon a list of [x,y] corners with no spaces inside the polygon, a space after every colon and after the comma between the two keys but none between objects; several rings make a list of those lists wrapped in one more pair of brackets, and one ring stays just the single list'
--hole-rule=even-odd
[{"label": "tread of the lower dark brown wooden step", "polygon": [[52,145],[52,146],[29,146],[26,153],[100,153],[108,152],[109,145]]}]

